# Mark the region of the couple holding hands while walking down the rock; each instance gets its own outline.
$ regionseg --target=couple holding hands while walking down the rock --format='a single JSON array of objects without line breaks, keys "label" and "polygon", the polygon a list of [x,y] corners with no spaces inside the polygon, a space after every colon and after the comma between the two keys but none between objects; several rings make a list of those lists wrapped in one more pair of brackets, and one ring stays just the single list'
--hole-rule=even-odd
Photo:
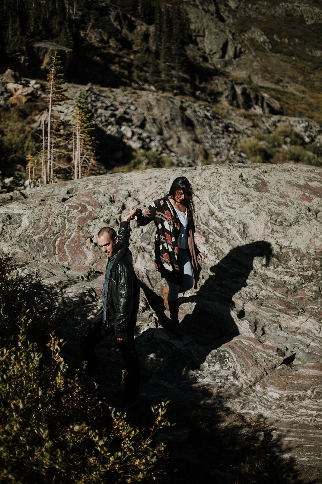
[{"label": "couple holding hands while walking down the rock", "polygon": [[140,286],[128,248],[128,222],[135,218],[139,226],[152,221],[156,226],[154,266],[167,282],[167,286],[160,289],[160,294],[171,318],[166,329],[182,338],[178,319],[179,292],[197,287],[201,270],[198,260],[204,260],[194,240],[194,211],[191,184],[186,177],[179,177],[172,182],[168,195],[152,202],[145,213],[140,209],[131,209],[122,219],[117,234],[111,227],[103,227],[98,232],[98,246],[108,257],[102,292],[103,307],[84,334],[82,351],[88,362],[87,368],[95,370],[99,360],[94,346],[108,334],[115,336],[127,367],[125,395],[115,405],[118,409],[127,409],[136,404],[140,384],[140,365],[134,342]]}]

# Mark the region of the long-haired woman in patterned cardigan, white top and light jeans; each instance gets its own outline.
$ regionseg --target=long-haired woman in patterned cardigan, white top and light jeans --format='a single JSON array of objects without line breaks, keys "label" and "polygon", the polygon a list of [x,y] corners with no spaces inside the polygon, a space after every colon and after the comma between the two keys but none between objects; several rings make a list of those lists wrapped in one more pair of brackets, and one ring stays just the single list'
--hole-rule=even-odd
[{"label": "long-haired woman in patterned cardigan, white top and light jeans", "polygon": [[182,338],[178,313],[179,292],[197,287],[201,267],[199,260],[204,260],[198,251],[194,233],[193,213],[195,205],[193,191],[186,177],[176,178],[166,197],[155,200],[142,214],[137,211],[137,223],[147,225],[154,221],[156,235],[154,242],[154,266],[168,282],[160,289],[164,305],[170,312],[171,333]]}]

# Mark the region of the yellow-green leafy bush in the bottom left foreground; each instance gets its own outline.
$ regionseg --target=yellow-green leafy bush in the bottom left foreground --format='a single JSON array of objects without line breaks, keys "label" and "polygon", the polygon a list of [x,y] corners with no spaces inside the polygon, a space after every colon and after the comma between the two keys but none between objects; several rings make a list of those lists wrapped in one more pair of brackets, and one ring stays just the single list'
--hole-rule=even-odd
[{"label": "yellow-green leafy bush in the bottom left foreground", "polygon": [[[144,435],[125,416],[89,395],[61,356],[62,340],[48,336],[42,348],[28,341],[33,311],[19,301],[19,281],[9,279],[10,259],[0,256],[0,481],[4,484],[165,482],[163,444]],[[13,309],[13,310],[12,310]],[[110,428],[99,430],[112,410]]]}]

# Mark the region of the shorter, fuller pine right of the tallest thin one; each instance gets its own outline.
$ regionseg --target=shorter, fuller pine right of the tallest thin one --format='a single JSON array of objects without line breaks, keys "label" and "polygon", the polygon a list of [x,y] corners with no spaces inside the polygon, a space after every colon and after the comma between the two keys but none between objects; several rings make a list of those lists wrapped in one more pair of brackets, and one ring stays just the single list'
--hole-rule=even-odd
[{"label": "shorter, fuller pine right of the tallest thin one", "polygon": [[[93,136],[95,126],[92,121],[92,113],[88,109],[84,92],[81,92],[76,100],[74,111],[75,128],[72,133],[74,178],[82,177],[82,167],[87,166],[86,176],[96,166],[95,149],[97,142]],[[76,139],[75,139],[76,138]]]}]

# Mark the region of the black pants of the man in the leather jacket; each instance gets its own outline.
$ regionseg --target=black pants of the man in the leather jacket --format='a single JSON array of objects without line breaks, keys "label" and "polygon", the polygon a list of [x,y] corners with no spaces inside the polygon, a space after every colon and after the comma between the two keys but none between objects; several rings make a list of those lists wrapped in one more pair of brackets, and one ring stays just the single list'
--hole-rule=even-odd
[{"label": "black pants of the man in the leather jacket", "polygon": [[[114,331],[105,328],[103,324],[103,313],[95,316],[87,332],[83,337],[82,352],[89,365],[99,363],[94,346],[98,345],[106,336],[114,334]],[[126,363],[125,391],[129,398],[137,398],[140,385],[140,363],[138,353],[135,349],[134,326],[127,327],[125,339],[117,341],[123,359]]]}]

